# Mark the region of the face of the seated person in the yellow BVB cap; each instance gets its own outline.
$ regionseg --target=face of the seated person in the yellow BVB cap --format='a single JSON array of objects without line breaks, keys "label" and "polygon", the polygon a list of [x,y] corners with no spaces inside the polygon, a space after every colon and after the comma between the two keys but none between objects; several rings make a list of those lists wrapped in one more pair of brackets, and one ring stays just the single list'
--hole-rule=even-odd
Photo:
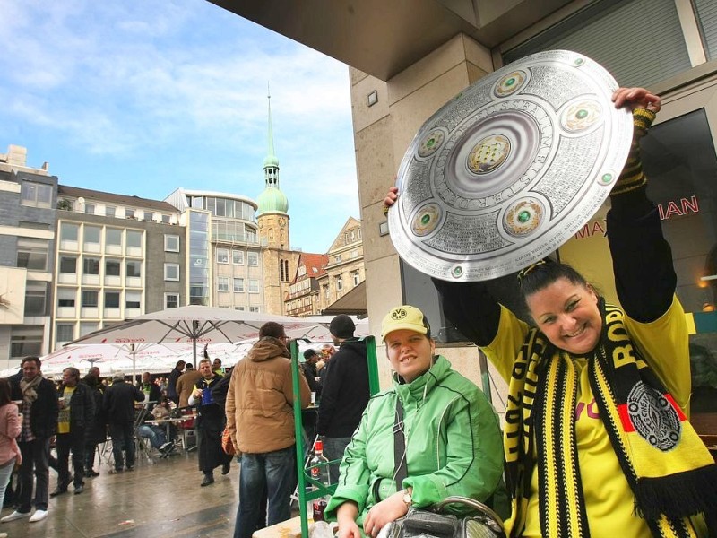
[{"label": "face of the seated person in the yellow BVB cap", "polygon": [[391,368],[410,383],[431,367],[436,342],[425,334],[398,329],[385,335],[386,353]]}]

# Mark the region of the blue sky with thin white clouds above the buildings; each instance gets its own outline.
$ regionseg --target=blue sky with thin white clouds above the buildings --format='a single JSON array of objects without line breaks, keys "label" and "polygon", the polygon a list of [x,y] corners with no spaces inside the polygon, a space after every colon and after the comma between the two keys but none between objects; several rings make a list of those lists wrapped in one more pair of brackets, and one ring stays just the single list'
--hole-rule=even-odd
[{"label": "blue sky with thin white clouds above the buildings", "polygon": [[359,217],[349,69],[206,0],[0,0],[0,153],[163,200],[263,191],[267,83],[291,247]]}]

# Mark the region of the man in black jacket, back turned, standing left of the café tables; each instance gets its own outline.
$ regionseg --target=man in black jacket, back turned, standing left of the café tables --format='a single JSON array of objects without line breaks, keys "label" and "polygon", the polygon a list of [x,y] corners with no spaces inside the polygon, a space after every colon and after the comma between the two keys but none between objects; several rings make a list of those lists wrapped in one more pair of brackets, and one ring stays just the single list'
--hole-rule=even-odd
[{"label": "man in black jacket, back turned, standing left of the caf\u00e9 tables", "polygon": [[127,455],[126,469],[134,469],[134,403],[143,401],[144,393],[131,383],[125,383],[125,374],[114,375],[103,403],[109,437],[112,438],[112,456],[115,457],[115,468],[110,473],[122,473],[125,464],[123,447]]}]

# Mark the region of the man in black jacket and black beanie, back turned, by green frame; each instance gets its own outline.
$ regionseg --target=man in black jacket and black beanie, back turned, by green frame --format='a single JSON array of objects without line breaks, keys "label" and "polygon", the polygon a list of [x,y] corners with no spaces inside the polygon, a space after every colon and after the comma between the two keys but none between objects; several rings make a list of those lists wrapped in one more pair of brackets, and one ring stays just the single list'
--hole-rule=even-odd
[{"label": "man in black jacket and black beanie, back turned, by green frame", "polygon": [[[340,347],[326,372],[316,423],[316,433],[324,436],[324,456],[329,460],[343,457],[370,397],[366,343],[354,337],[355,330],[356,325],[345,314],[334,317],[329,325],[333,343]],[[339,480],[338,464],[329,466],[329,477],[332,483]]]}]

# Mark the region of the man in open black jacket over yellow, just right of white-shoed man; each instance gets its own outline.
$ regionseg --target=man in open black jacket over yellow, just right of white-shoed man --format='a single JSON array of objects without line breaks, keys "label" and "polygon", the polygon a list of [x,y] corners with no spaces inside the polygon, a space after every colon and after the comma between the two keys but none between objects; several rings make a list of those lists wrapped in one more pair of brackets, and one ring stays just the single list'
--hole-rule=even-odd
[{"label": "man in open black jacket over yellow, just right of white-shoed man", "polygon": [[85,430],[95,414],[95,403],[91,388],[80,383],[80,370],[65,368],[62,371],[62,385],[57,389],[59,395],[59,418],[57,420],[57,487],[50,497],[67,491],[70,483],[68,462],[70,451],[73,453],[74,494],[84,489],[84,438]]}]

